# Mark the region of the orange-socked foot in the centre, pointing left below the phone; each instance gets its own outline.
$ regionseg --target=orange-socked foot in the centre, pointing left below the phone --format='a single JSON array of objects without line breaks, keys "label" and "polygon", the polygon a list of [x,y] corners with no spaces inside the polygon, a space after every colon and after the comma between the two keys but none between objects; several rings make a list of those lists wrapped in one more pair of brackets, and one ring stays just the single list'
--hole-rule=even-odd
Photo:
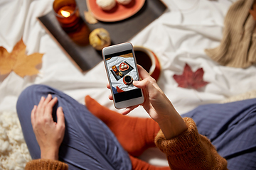
[{"label": "orange-socked foot in the centre, pointing left below the phone", "polygon": [[112,130],[122,147],[134,157],[138,157],[149,147],[155,147],[154,138],[159,125],[151,118],[134,118],[111,111],[101,106],[90,96],[85,97],[87,109],[100,118]]}]

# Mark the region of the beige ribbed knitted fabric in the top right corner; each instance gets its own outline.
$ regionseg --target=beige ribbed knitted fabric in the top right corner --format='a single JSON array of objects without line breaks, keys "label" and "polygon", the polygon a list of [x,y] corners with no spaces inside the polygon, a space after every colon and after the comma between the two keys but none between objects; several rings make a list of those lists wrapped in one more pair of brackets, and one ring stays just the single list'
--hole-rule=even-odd
[{"label": "beige ribbed knitted fabric in the top right corner", "polygon": [[250,15],[254,0],[238,0],[230,6],[224,21],[223,39],[206,55],[228,67],[249,67],[256,62],[256,21]]}]

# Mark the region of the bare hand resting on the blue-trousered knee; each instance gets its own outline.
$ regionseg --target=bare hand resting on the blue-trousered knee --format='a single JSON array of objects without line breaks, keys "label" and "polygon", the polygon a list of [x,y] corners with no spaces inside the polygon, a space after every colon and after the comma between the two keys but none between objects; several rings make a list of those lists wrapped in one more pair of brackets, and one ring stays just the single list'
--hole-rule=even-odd
[{"label": "bare hand resting on the blue-trousered knee", "polygon": [[58,99],[48,94],[42,97],[38,106],[31,111],[31,123],[36,140],[41,149],[41,159],[58,160],[58,151],[63,142],[65,132],[65,119],[61,107],[57,109],[58,123],[53,121],[53,106]]}]

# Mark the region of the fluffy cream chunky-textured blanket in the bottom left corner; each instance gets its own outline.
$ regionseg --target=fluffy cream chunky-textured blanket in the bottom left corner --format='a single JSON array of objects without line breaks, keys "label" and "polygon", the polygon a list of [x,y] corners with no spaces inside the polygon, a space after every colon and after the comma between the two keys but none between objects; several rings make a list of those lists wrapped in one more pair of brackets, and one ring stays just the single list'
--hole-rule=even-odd
[{"label": "fluffy cream chunky-textured blanket in the bottom left corner", "polygon": [[0,146],[0,169],[21,170],[31,160],[18,116],[14,112],[0,113]]}]

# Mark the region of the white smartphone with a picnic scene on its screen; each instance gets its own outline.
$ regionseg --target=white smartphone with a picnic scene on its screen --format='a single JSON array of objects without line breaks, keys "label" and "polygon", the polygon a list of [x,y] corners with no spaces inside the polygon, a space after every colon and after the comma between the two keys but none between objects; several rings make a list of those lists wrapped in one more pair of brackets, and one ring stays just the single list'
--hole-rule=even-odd
[{"label": "white smartphone with a picnic scene on its screen", "polygon": [[142,89],[132,84],[139,80],[137,62],[130,42],[102,49],[115,108],[127,108],[144,102]]}]

